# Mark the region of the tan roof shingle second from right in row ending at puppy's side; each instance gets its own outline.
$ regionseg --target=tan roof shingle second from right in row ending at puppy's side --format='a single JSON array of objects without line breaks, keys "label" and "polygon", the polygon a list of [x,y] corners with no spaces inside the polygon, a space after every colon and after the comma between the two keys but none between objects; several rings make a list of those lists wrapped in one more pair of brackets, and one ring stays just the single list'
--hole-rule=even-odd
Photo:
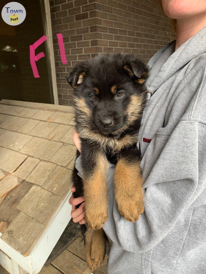
[{"label": "tan roof shingle second from right in row ending at puppy's side", "polygon": [[43,185],[56,166],[56,164],[41,161],[29,175],[27,181],[33,184]]}]

